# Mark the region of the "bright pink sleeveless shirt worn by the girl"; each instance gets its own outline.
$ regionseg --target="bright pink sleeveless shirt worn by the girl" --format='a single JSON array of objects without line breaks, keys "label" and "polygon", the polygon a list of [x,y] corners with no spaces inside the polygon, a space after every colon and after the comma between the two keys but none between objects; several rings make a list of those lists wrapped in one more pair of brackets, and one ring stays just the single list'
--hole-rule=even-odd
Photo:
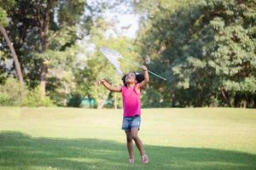
[{"label": "bright pink sleeveless shirt worn by the girl", "polygon": [[141,99],[140,93],[136,91],[137,85],[134,88],[121,87],[121,93],[123,96],[123,116],[140,116],[141,115]]}]

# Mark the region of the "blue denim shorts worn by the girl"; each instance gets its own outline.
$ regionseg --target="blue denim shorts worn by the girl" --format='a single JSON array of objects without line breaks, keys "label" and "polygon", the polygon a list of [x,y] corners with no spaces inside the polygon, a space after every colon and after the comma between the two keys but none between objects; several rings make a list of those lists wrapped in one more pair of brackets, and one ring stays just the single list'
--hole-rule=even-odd
[{"label": "blue denim shorts worn by the girl", "polygon": [[131,131],[131,128],[140,129],[141,116],[123,117],[122,129],[125,131]]}]

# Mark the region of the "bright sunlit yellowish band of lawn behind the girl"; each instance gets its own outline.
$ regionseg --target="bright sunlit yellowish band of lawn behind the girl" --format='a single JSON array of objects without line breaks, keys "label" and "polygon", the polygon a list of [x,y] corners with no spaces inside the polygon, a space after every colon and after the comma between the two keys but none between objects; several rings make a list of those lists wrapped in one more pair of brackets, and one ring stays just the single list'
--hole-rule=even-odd
[{"label": "bright sunlit yellowish band of lawn behind the girl", "polygon": [[[0,107],[0,130],[33,137],[109,139],[125,143],[121,110]],[[144,144],[256,153],[256,110],[144,109]]]}]

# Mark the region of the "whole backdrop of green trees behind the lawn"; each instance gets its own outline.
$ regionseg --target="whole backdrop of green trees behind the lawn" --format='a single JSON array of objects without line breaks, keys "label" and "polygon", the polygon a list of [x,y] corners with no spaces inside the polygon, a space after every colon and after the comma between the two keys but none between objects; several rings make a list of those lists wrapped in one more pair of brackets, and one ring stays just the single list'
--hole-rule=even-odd
[{"label": "whole backdrop of green trees behind the lawn", "polygon": [[[135,39],[106,37],[115,22],[106,19],[108,9],[140,15]],[[107,46],[167,78],[150,77],[143,107],[256,106],[253,0],[0,0],[0,26],[26,84],[25,99],[8,94],[17,68],[1,38],[0,105],[81,106],[83,99],[95,99],[98,108],[121,107],[119,95],[96,85],[102,77],[122,83],[98,51]],[[137,70],[127,63],[121,67]],[[21,102],[9,104],[12,99]]]}]

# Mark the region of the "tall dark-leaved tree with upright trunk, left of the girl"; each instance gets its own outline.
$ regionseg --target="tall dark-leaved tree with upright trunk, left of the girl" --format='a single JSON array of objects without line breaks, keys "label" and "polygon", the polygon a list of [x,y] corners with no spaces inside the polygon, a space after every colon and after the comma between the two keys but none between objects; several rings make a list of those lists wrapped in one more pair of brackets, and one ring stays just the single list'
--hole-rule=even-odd
[{"label": "tall dark-leaved tree with upright trunk, left of the girl", "polygon": [[7,10],[11,19],[7,29],[16,40],[22,72],[31,88],[39,85],[42,98],[49,71],[65,62],[72,65],[77,24],[83,12],[81,0],[18,1]]}]

